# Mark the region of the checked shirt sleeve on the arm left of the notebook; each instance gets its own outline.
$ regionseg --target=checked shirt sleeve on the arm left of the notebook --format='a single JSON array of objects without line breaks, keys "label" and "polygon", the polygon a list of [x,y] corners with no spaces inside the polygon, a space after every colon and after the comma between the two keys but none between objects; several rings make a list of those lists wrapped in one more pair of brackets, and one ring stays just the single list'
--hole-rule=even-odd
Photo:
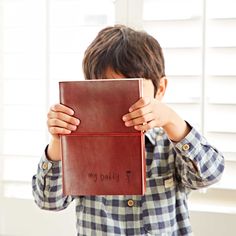
[{"label": "checked shirt sleeve on the arm left of the notebook", "polygon": [[62,194],[61,161],[49,161],[46,152],[47,148],[32,178],[33,197],[40,208],[59,211],[65,209],[73,197]]}]

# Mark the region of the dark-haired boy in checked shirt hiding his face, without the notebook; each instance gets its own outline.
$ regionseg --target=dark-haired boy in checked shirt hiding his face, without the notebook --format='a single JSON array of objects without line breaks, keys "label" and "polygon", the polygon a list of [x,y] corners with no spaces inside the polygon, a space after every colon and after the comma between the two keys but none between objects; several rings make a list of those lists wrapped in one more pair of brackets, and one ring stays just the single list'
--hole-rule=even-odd
[{"label": "dark-haired boy in checked shirt hiding his face, without the notebook", "polygon": [[146,193],[63,196],[59,136],[79,128],[80,121],[73,110],[56,104],[48,112],[51,142],[33,177],[35,202],[42,209],[62,210],[75,200],[78,235],[191,235],[187,195],[218,181],[224,160],[161,102],[167,79],[159,43],[145,32],[107,27],[85,51],[83,69],[86,79],[145,78],[144,97],[121,119],[125,126],[145,131]]}]

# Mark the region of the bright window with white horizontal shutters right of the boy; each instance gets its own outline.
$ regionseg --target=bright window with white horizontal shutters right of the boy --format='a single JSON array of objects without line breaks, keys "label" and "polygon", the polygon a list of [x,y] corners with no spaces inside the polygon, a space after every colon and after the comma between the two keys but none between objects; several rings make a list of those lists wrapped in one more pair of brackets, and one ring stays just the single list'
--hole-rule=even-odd
[{"label": "bright window with white horizontal shutters right of the boy", "polygon": [[226,158],[222,180],[190,209],[236,212],[236,13],[233,0],[144,0],[142,25],[164,48],[166,102]]}]

